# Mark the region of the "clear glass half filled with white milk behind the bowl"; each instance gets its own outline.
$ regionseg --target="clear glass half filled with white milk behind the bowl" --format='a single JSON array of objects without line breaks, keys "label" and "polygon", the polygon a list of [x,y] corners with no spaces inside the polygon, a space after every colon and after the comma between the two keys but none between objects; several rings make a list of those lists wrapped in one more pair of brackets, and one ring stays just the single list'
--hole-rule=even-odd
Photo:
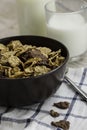
[{"label": "clear glass half filled with white milk behind the bowl", "polygon": [[87,51],[87,4],[82,0],[51,0],[45,5],[47,35],[68,48],[70,59]]}]

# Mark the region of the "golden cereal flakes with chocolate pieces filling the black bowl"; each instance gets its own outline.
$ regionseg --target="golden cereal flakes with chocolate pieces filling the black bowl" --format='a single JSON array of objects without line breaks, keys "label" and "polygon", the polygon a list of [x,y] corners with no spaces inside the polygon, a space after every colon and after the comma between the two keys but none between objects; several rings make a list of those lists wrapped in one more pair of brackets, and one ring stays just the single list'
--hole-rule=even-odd
[{"label": "golden cereal flakes with chocolate pieces filling the black bowl", "polygon": [[12,40],[0,43],[0,78],[26,78],[39,76],[60,66],[65,57],[61,49],[37,47]]}]

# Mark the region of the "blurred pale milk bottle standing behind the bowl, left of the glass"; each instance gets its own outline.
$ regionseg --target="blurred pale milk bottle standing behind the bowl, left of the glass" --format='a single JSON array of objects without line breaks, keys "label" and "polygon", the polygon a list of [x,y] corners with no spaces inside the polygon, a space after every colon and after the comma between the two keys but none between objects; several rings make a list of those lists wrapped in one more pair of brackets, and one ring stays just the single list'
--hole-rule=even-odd
[{"label": "blurred pale milk bottle standing behind the bowl, left of the glass", "polygon": [[17,0],[21,34],[46,35],[44,5],[49,0]]}]

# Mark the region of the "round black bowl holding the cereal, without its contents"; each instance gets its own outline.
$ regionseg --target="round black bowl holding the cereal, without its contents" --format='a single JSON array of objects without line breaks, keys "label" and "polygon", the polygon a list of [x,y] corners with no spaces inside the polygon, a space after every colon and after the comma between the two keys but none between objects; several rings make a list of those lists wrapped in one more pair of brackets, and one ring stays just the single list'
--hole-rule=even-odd
[{"label": "round black bowl holding the cereal, without its contents", "polygon": [[64,63],[47,74],[20,79],[0,79],[0,105],[8,107],[20,107],[39,103],[56,92],[61,85],[66,63],[69,58],[67,48],[60,42],[41,36],[14,36],[0,39],[0,43],[8,44],[12,40],[20,40],[22,43],[36,46],[49,47],[56,51],[61,48]]}]

